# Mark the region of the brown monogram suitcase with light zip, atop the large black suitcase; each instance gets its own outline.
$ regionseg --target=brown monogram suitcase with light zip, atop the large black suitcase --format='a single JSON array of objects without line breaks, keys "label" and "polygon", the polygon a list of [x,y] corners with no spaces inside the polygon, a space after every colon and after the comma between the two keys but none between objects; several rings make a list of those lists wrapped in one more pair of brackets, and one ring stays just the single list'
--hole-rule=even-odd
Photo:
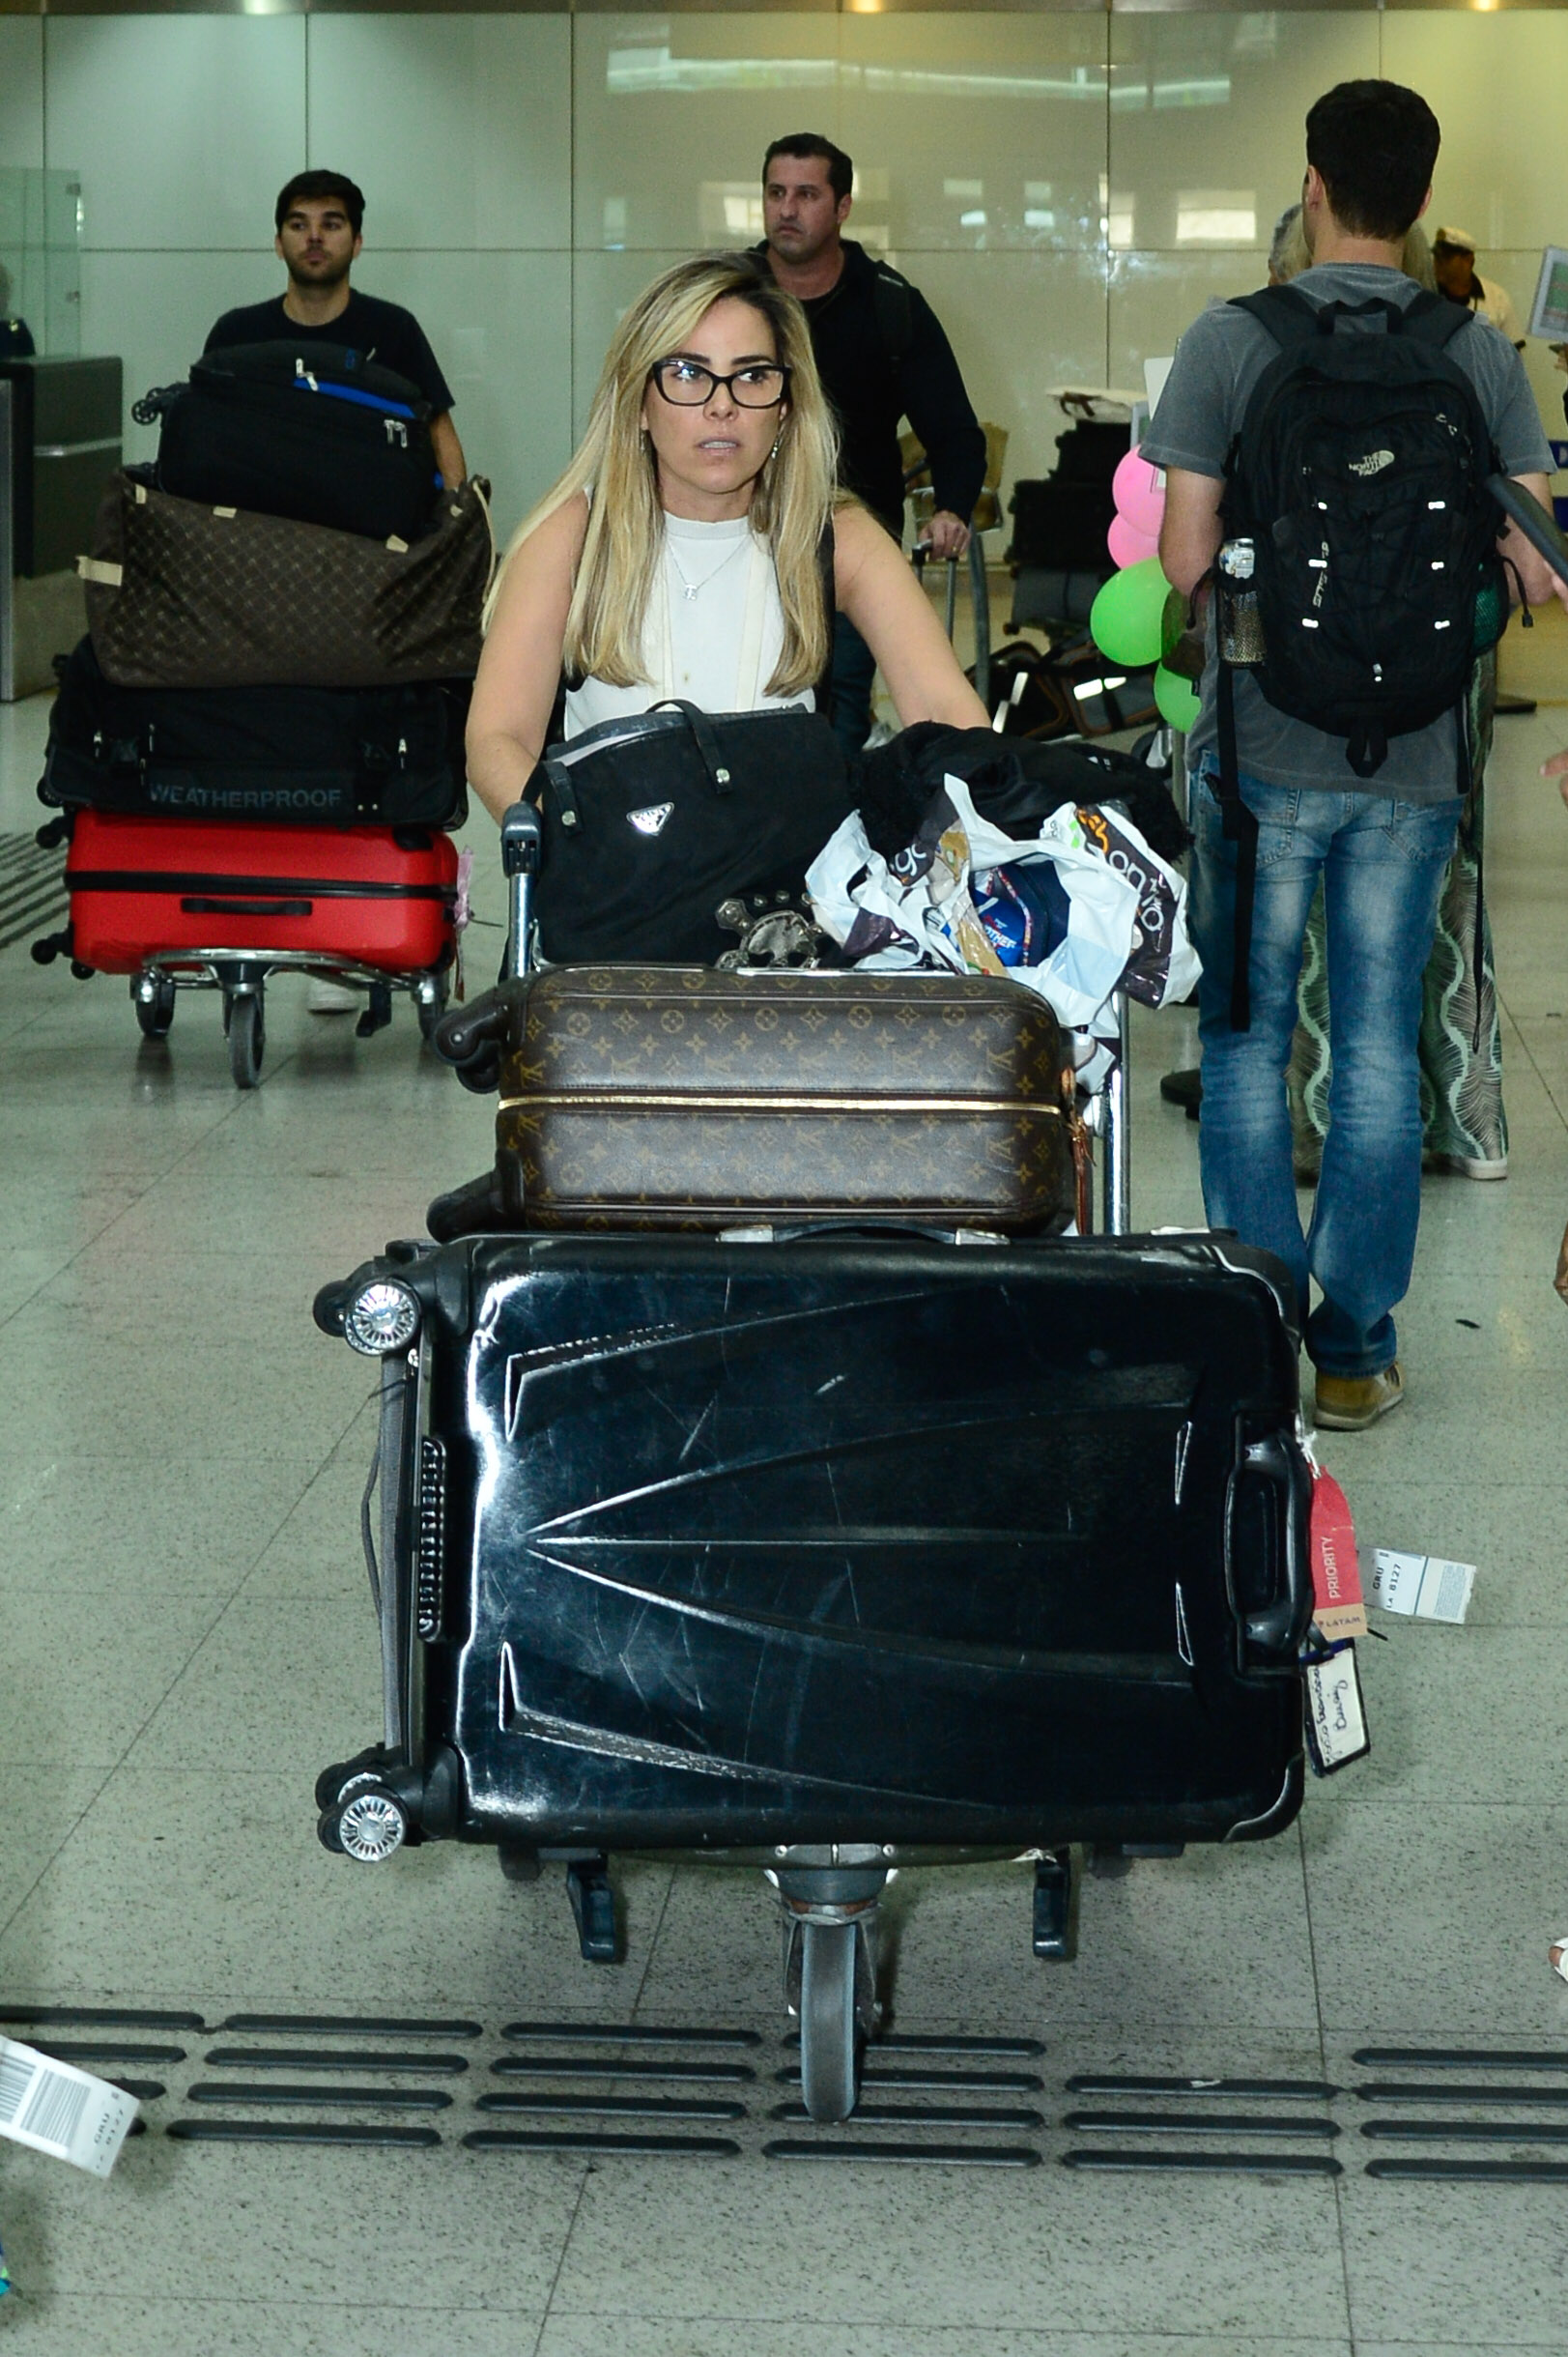
[{"label": "brown monogram suitcase with light zip, atop the large black suitcase", "polygon": [[1004,978],[556,966],[507,985],[498,1171],[526,1228],[1078,1211],[1073,1058]]}]

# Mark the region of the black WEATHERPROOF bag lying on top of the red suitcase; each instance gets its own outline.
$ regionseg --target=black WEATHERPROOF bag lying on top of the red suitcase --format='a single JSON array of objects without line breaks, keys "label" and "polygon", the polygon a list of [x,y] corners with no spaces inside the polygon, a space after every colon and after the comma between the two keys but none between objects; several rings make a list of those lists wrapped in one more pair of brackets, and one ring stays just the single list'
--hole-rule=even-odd
[{"label": "black WEATHERPROOF bag lying on top of the red suitcase", "polygon": [[57,658],[38,799],[54,808],[457,827],[469,681],[118,688],[92,639]]}]

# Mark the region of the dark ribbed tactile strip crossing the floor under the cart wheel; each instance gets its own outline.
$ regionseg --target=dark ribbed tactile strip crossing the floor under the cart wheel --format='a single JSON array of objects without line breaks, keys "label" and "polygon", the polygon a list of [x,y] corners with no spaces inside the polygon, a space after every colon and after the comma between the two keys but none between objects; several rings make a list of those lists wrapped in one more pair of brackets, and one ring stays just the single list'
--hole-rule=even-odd
[{"label": "dark ribbed tactile strip crossing the floor under the cart wheel", "polygon": [[[1035,2168],[1054,2157],[1158,2176],[1568,2180],[1554,2154],[1568,2145],[1568,2046],[1363,2046],[1351,2060],[1377,2077],[1335,2086],[1224,2072],[1047,2079],[1040,2039],[894,2032],[868,2051],[854,2117],[823,2128],[785,2093],[799,2088],[799,2036],[740,2025],[488,2029],[394,2013],[229,2013],[207,2025],[174,2008],[0,2001],[0,2027],[125,2086],[146,2107],[137,2133],[196,2147],[462,2145],[870,2168]],[[137,2067],[163,2077],[132,2077]],[[1389,2150],[1398,2145],[1415,2150]]]}]

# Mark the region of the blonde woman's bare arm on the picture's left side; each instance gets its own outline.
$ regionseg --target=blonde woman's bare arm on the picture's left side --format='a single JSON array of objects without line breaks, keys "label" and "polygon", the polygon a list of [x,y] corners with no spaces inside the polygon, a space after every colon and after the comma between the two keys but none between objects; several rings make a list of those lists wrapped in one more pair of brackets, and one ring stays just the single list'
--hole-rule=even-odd
[{"label": "blonde woman's bare arm on the picture's left side", "polygon": [[467,733],[469,785],[498,825],[545,752],[585,535],[587,500],[568,500],[528,535],[500,587]]}]

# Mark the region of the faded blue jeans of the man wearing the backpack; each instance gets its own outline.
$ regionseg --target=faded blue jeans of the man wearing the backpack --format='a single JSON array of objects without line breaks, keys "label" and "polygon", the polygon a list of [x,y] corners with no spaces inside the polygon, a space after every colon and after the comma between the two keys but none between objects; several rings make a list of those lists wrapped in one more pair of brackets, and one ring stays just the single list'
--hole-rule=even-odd
[{"label": "faded blue jeans of the man wearing the backpack", "polygon": [[[1306,1351],[1325,1374],[1379,1374],[1396,1353],[1394,1303],[1410,1287],[1422,1211],[1415,1039],[1460,797],[1264,785],[1252,910],[1252,1030],[1231,1030],[1236,844],[1212,775],[1193,778],[1191,929],[1203,959],[1203,1204],[1214,1228],[1278,1254],[1297,1280]],[[1313,891],[1327,907],[1330,1129],[1306,1235],[1290,1162],[1285,1065]],[[1309,1275],[1323,1301],[1306,1315]]]}]

